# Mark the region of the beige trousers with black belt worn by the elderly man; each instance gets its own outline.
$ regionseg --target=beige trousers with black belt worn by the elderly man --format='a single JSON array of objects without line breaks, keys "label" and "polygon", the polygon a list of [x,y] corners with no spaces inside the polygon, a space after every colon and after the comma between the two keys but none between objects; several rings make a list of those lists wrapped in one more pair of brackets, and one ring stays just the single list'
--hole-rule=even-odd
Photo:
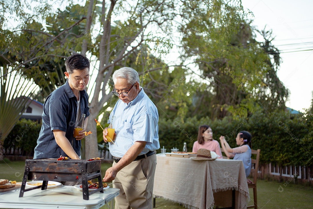
[{"label": "beige trousers with black belt worn by the elderly man", "polygon": [[115,197],[115,209],[152,209],[155,169],[156,155],[150,155],[119,171],[113,180],[113,188],[121,190]]}]

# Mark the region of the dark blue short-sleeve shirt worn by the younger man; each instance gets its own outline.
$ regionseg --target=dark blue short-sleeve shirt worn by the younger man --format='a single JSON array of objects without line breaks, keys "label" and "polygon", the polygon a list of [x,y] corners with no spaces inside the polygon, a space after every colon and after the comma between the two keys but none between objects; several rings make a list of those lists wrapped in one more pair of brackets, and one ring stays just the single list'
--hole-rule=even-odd
[{"label": "dark blue short-sleeve shirt worn by the younger man", "polygon": [[[89,114],[88,94],[85,90],[80,91],[80,111]],[[74,125],[77,115],[77,99],[69,86],[69,82],[55,89],[44,102],[42,114],[42,127],[35,147],[34,159],[59,158],[67,156],[54,139],[53,130],[65,132],[73,149],[80,156],[81,140],[73,137]]]}]

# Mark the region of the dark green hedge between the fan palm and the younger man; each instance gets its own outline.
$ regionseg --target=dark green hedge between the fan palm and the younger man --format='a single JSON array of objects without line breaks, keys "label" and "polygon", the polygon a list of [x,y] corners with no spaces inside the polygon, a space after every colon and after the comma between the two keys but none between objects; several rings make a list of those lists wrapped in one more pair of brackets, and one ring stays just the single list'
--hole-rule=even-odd
[{"label": "dark green hedge between the fan palm and the younger man", "polygon": [[41,123],[37,121],[19,120],[4,140],[5,154],[33,156],[40,128]]}]

